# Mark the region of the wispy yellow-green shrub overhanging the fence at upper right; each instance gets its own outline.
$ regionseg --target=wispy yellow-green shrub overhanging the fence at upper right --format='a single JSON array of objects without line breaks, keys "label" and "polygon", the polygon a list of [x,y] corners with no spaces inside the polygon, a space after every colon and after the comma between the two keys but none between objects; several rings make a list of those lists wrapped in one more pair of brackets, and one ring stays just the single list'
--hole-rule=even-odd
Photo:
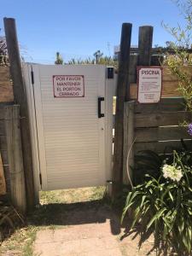
[{"label": "wispy yellow-green shrub overhanging the fence at upper right", "polygon": [[186,102],[186,108],[192,111],[192,0],[173,0],[183,15],[183,26],[163,26],[174,38],[172,49],[174,54],[167,52],[166,65],[178,79],[178,89]]}]

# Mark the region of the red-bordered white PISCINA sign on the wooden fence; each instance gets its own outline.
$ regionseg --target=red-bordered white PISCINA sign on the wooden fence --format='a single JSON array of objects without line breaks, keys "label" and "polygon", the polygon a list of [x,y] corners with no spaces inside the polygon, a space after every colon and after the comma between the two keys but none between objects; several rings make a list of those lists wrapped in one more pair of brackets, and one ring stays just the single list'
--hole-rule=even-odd
[{"label": "red-bordered white PISCINA sign on the wooden fence", "polygon": [[137,101],[139,103],[160,102],[162,90],[161,67],[137,67]]}]

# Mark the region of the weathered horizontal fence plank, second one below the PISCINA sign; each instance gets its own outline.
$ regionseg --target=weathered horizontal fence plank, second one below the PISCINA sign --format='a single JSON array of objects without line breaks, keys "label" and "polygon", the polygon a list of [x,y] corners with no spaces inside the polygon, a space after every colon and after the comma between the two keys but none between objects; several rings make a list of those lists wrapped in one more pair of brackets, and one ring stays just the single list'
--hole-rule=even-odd
[{"label": "weathered horizontal fence plank, second one below the PISCINA sign", "polygon": [[192,121],[192,113],[186,111],[162,113],[136,113],[135,127],[154,127],[181,125],[184,121]]}]

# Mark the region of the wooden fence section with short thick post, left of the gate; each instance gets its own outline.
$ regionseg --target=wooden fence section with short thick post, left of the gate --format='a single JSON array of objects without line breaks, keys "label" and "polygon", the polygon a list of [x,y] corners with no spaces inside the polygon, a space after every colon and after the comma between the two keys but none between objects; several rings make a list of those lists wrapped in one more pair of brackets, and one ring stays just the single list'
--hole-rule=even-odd
[{"label": "wooden fence section with short thick post, left of the gate", "polygon": [[[26,212],[26,189],[20,138],[20,106],[14,105],[9,67],[0,67],[0,195],[7,193],[13,205]],[[3,164],[3,165],[2,165]],[[0,166],[0,168],[1,168]]]}]

